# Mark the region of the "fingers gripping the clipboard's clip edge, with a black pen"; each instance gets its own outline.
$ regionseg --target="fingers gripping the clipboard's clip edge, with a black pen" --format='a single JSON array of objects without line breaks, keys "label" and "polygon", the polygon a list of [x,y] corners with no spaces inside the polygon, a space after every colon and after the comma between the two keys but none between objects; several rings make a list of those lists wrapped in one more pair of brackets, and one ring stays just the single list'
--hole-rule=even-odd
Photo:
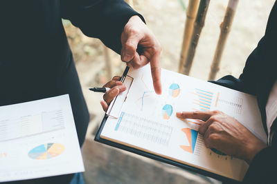
[{"label": "fingers gripping the clipboard's clip edge, with a black pen", "polygon": [[118,95],[120,92],[124,92],[126,90],[126,86],[120,82],[120,76],[114,76],[114,78],[103,85],[103,88],[111,88],[108,92],[103,95],[104,101],[100,101],[102,108],[105,112],[107,112],[109,108],[109,104],[111,101]]}]

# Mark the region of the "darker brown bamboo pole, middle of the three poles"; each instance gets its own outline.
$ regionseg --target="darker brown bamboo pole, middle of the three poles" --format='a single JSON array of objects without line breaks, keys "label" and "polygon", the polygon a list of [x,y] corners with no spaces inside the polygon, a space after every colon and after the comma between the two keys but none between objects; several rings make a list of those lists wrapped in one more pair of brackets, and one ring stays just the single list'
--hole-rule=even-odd
[{"label": "darker brown bamboo pole, middle of the three poles", "polygon": [[193,58],[195,57],[195,50],[197,47],[197,43],[199,41],[202,28],[204,27],[204,24],[205,24],[209,3],[210,3],[210,0],[201,0],[199,3],[199,8],[195,19],[194,28],[193,28],[193,34],[188,48],[188,56],[186,57],[184,67],[181,71],[181,73],[183,74],[186,74],[186,75],[190,74],[190,68],[191,68],[191,65],[193,64]]}]

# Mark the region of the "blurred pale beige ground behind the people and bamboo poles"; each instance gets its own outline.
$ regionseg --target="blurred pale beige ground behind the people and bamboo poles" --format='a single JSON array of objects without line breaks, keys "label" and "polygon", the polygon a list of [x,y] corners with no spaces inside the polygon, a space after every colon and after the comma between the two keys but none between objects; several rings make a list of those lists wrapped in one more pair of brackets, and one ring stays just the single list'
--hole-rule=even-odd
[{"label": "blurred pale beige ground behind the people and bamboo poles", "polygon": [[[161,66],[175,72],[179,63],[186,20],[186,12],[181,8],[179,1],[134,1],[134,9],[143,14],[148,26],[161,42],[163,48]],[[188,0],[185,0],[185,3],[188,4]],[[274,0],[239,2],[217,79],[226,74],[238,77],[242,72],[248,55],[265,32],[273,3]],[[207,79],[220,33],[219,25],[227,4],[227,0],[211,1],[190,76]],[[88,88],[101,86],[109,80],[105,70],[105,48],[98,39],[85,37],[68,21],[64,21],[64,26],[91,114],[87,139],[82,147],[86,183],[220,183],[199,174],[93,141],[93,132],[104,113],[99,103],[102,94],[91,93]],[[108,52],[113,64],[112,75],[122,74],[125,65],[121,63],[120,57],[110,50]]]}]

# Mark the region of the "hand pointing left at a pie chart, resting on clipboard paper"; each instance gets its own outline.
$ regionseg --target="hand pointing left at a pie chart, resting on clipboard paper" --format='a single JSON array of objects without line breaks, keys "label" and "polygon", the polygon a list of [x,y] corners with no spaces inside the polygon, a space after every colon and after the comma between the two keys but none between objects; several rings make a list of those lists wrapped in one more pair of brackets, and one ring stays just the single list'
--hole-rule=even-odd
[{"label": "hand pointing left at a pie chart, resting on clipboard paper", "polygon": [[236,119],[220,111],[177,112],[177,117],[206,121],[199,127],[206,147],[244,159],[247,163],[251,163],[254,156],[267,146]]}]

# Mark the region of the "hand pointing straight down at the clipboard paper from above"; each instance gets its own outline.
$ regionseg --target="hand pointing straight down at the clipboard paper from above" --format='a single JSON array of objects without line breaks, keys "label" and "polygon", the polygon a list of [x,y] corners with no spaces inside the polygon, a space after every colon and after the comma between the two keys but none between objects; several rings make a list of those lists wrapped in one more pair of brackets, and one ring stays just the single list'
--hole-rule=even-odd
[{"label": "hand pointing straight down at the clipboard paper from above", "polygon": [[[139,16],[129,19],[121,34],[121,60],[128,66],[140,68],[150,62],[154,90],[161,94],[161,45]],[[142,53],[136,52],[138,45]]]}]

